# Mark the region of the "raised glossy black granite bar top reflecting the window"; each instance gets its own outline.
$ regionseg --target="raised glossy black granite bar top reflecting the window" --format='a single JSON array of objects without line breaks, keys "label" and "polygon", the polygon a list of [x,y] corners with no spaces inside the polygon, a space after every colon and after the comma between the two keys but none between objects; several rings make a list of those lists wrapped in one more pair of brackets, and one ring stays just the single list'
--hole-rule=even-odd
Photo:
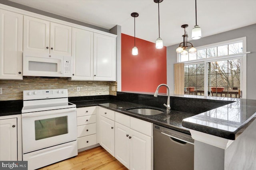
[{"label": "raised glossy black granite bar top reflecting the window", "polygon": [[256,100],[235,102],[188,117],[182,125],[189,129],[235,140],[256,119]]}]

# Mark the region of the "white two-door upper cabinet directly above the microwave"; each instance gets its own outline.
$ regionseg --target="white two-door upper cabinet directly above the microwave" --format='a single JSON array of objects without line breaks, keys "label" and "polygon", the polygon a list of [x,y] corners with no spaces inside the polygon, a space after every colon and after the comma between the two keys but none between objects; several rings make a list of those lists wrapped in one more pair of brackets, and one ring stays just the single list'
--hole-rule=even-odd
[{"label": "white two-door upper cabinet directly above the microwave", "polygon": [[23,51],[71,56],[72,27],[24,16]]}]

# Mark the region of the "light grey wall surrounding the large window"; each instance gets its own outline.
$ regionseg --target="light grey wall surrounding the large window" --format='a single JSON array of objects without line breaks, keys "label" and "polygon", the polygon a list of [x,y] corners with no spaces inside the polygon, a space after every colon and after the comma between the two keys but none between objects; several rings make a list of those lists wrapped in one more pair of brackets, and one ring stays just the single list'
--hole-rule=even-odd
[{"label": "light grey wall surrounding the large window", "polygon": [[[190,27],[192,29],[192,27]],[[202,28],[204,29],[204,28]],[[206,31],[206,30],[204,30]],[[204,36],[204,35],[202,35]],[[230,39],[236,39],[240,37],[246,37],[247,39],[247,50],[250,54],[247,54],[247,99],[256,100],[256,24],[249,25],[246,27],[234,29],[224,33],[219,33],[216,35],[211,35],[208,37],[203,37],[198,40],[189,41],[194,45],[194,47],[199,47],[202,45],[208,45],[212,43],[218,43],[222,41],[227,41]],[[180,42],[182,37],[180,36]],[[174,66],[173,64],[177,62],[177,45],[172,45],[167,47],[167,84],[170,86],[171,93],[174,92]]]}]

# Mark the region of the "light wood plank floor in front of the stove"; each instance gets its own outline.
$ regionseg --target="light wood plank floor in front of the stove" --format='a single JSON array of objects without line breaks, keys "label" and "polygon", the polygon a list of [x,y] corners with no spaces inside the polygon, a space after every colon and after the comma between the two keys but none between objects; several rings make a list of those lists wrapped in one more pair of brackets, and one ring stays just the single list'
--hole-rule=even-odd
[{"label": "light wood plank floor in front of the stove", "polygon": [[128,170],[102,147],[79,152],[69,158],[38,170]]}]

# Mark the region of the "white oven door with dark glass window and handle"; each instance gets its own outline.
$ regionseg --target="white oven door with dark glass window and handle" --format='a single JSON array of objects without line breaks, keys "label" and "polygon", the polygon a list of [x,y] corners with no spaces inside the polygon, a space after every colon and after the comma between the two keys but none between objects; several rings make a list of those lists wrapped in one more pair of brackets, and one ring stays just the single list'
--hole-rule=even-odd
[{"label": "white oven door with dark glass window and handle", "polygon": [[76,138],[76,108],[22,113],[23,154]]}]

